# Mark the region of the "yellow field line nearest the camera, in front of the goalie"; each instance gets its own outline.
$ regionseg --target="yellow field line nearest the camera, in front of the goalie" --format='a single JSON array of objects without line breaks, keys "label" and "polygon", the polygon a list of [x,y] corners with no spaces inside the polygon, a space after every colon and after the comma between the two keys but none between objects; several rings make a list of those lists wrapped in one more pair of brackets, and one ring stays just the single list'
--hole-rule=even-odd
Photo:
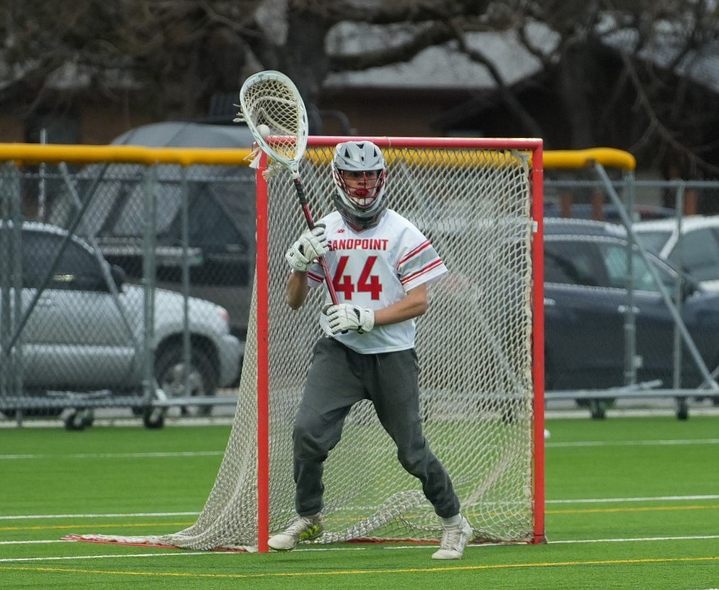
[{"label": "yellow field line nearest the camera, in front of the goalie", "polygon": [[433,568],[399,568],[377,570],[337,570],[337,571],[303,571],[303,572],[276,572],[276,573],[188,573],[188,572],[161,572],[156,571],[116,571],[116,570],[87,570],[81,568],[48,568],[27,566],[0,566],[0,570],[34,571],[52,573],[96,573],[106,576],[157,576],[167,578],[302,578],[317,576],[349,576],[357,574],[391,574],[391,573],[431,573],[439,571],[478,571],[498,570],[510,568],[557,568],[571,566],[622,566],[637,563],[699,563],[705,561],[719,561],[714,557],[684,557],[684,558],[646,558],[646,559],[603,559],[594,561],[555,561],[540,563],[498,563],[482,566],[446,566]]}]

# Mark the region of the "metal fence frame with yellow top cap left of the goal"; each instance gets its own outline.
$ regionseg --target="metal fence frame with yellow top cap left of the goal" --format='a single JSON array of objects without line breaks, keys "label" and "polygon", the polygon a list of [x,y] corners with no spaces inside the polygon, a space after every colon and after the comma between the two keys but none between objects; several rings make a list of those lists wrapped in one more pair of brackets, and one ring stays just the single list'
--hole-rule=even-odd
[{"label": "metal fence frame with yellow top cap left of the goal", "polygon": [[[143,341],[136,342],[137,349],[142,358],[144,367],[144,379],[142,381],[142,394],[137,396],[129,395],[112,395],[109,391],[93,391],[88,393],[78,392],[60,392],[58,396],[43,396],[40,398],[29,395],[13,395],[12,391],[22,391],[22,374],[17,370],[22,368],[22,357],[20,356],[21,348],[16,344],[22,334],[22,328],[29,314],[32,313],[35,302],[40,296],[42,289],[50,282],[52,272],[45,278],[44,284],[35,296],[34,301],[29,309],[22,313],[19,302],[18,285],[14,285],[15,289],[8,289],[9,285],[3,285],[2,301],[0,302],[0,314],[2,325],[11,328],[10,330],[2,330],[0,335],[0,410],[7,411],[13,409],[15,411],[15,420],[18,425],[22,424],[25,414],[36,409],[68,409],[69,413],[65,416],[65,427],[69,430],[82,430],[84,427],[91,425],[93,421],[93,410],[101,407],[141,407],[144,409],[142,414],[143,422],[146,427],[157,428],[164,424],[165,413],[170,407],[203,405],[219,405],[234,404],[234,398],[223,398],[217,396],[192,396],[188,394],[188,379],[185,375],[186,396],[173,397],[168,399],[164,391],[160,389],[155,381],[152,370],[152,359],[155,351],[153,350],[152,330],[154,327],[154,294],[155,294],[155,271],[156,271],[156,231],[155,231],[155,208],[157,206],[155,199],[155,183],[157,182],[157,174],[155,165],[178,164],[181,165],[181,190],[182,190],[182,234],[183,245],[181,254],[182,269],[182,294],[185,302],[183,317],[183,356],[185,358],[184,370],[188,371],[188,360],[190,357],[190,333],[188,330],[188,291],[190,285],[189,268],[191,252],[188,248],[188,186],[186,169],[193,164],[209,164],[209,165],[249,165],[248,157],[251,150],[247,149],[193,149],[193,148],[143,148],[139,146],[96,146],[96,145],[36,145],[36,144],[0,144],[0,165],[4,170],[8,171],[0,177],[1,191],[1,210],[3,212],[3,221],[12,222],[12,227],[17,228],[17,235],[14,243],[1,244],[2,251],[15,253],[16,256],[0,257],[0,264],[4,265],[6,272],[2,273],[7,281],[11,276],[15,277],[15,281],[19,281],[19,273],[11,272],[12,269],[19,268],[17,253],[19,252],[19,230],[22,224],[20,215],[20,207],[22,194],[19,186],[20,171],[19,165],[28,163],[57,163],[60,175],[63,178],[65,189],[68,190],[75,201],[79,205],[78,211],[72,221],[66,228],[69,234],[75,233],[78,226],[83,221],[88,205],[95,196],[96,182],[88,187],[86,195],[81,197],[75,190],[73,179],[68,173],[67,163],[101,163],[106,167],[109,163],[137,163],[145,165],[147,168],[142,180],[144,207],[145,207],[145,227],[143,232],[143,257],[142,257],[142,289],[143,289],[143,318],[144,330]],[[96,178],[99,180],[103,175],[100,173]],[[6,181],[6,177],[10,181]],[[3,237],[9,232],[1,232]],[[69,240],[69,237],[68,237]],[[66,243],[66,240],[64,243]],[[94,236],[90,235],[86,239],[90,245],[94,245],[96,251],[99,252]],[[57,264],[62,255],[63,248],[55,253],[55,264]],[[14,265],[14,266],[11,266]],[[106,276],[109,288],[113,289],[114,282],[110,277]],[[9,298],[14,293],[16,301],[14,301],[14,314],[11,314],[11,306]],[[116,289],[114,291],[116,297]],[[122,313],[122,311],[121,311]],[[127,323],[127,319],[123,318]]]}]

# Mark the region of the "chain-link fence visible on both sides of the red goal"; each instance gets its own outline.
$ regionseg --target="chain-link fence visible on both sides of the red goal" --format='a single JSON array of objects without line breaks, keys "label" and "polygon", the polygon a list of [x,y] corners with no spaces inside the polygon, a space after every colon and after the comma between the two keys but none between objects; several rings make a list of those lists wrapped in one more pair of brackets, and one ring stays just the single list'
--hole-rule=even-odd
[{"label": "chain-link fence visible on both sides of the red goal", "polygon": [[[251,308],[249,150],[195,150],[203,158],[188,164],[188,150],[113,161],[85,148],[84,165],[55,155],[0,168],[0,413],[82,428],[93,409],[123,407],[157,427],[169,407],[207,416],[234,403],[216,394],[239,381]],[[670,191],[677,208],[636,204],[638,191]],[[719,183],[637,181],[598,164],[546,176],[546,219],[616,229],[546,223],[548,400],[595,417],[620,397],[676,397],[679,417],[717,402],[719,217],[677,215],[689,191]],[[670,224],[672,249],[644,240],[639,219]]]}]

